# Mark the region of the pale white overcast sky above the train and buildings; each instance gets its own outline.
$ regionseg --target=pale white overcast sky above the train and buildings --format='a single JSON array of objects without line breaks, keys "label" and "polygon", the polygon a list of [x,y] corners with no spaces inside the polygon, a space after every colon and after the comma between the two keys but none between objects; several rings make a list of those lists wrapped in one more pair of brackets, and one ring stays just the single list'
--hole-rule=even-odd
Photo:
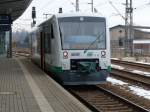
[{"label": "pale white overcast sky above the train and buildings", "polygon": [[[46,20],[44,13],[56,14],[59,7],[63,8],[63,13],[75,12],[76,0],[33,0],[24,14],[18,18],[13,24],[13,31],[26,29],[31,30],[31,11],[32,6],[36,7],[37,11],[37,24]],[[91,12],[91,5],[88,4],[91,0],[79,0],[80,12]],[[108,18],[109,27],[122,24],[124,20],[118,15],[117,11],[111,6],[110,2],[119,10],[119,12],[125,15],[125,3],[126,0],[94,0],[94,7],[98,10],[98,14],[106,16]],[[150,0],[133,0],[133,20],[135,25],[150,26]]]}]

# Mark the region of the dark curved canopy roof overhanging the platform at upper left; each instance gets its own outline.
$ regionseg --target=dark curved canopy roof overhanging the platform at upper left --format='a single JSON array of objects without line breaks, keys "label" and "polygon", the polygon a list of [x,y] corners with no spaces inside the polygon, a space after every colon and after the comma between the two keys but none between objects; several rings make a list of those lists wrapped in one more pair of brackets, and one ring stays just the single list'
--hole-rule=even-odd
[{"label": "dark curved canopy roof overhanging the platform at upper left", "polygon": [[26,10],[32,0],[0,0],[0,15],[11,15],[16,20]]}]

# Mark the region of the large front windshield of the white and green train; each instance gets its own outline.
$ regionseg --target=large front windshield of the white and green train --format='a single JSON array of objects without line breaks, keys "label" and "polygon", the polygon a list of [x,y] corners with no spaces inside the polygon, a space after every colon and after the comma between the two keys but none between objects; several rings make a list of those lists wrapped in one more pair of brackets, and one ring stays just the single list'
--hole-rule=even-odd
[{"label": "large front windshield of the white and green train", "polygon": [[62,48],[99,50],[106,48],[106,22],[100,17],[64,17],[59,19]]}]

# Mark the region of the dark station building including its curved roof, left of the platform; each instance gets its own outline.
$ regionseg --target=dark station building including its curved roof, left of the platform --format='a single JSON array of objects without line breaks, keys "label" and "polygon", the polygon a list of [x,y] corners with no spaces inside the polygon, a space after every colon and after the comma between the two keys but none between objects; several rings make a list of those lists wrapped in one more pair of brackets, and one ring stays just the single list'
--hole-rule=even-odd
[{"label": "dark station building including its curved roof, left of the platform", "polygon": [[0,57],[12,57],[12,23],[23,14],[31,1],[0,1]]}]

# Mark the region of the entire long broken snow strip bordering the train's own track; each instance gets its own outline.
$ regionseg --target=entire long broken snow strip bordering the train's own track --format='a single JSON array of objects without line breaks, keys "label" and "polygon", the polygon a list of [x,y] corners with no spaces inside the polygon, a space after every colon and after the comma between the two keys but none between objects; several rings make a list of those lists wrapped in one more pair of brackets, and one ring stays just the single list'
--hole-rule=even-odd
[{"label": "entire long broken snow strip bordering the train's own track", "polygon": [[118,80],[118,79],[115,79],[115,78],[112,78],[112,77],[108,77],[107,81],[114,84],[114,85],[127,86],[133,94],[136,94],[138,96],[142,96],[142,97],[150,100],[150,90],[145,90],[143,88],[140,88],[140,87],[137,87],[137,86],[134,86],[134,85],[129,86],[128,83],[123,82],[123,81]]}]

